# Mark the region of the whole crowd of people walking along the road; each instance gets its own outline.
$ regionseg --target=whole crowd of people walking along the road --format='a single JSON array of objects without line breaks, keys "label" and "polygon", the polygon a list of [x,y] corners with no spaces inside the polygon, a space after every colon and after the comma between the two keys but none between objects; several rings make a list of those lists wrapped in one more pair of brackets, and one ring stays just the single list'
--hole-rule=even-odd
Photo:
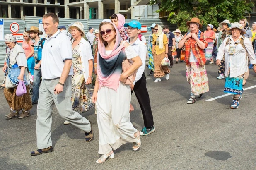
[{"label": "whole crowd of people walking along the road", "polygon": [[[230,108],[238,108],[249,67],[256,72],[256,23],[250,29],[246,19],[233,24],[226,19],[217,29],[208,24],[204,32],[200,30],[203,25],[198,18],[186,24],[188,32],[182,35],[179,29],[171,32],[168,26],[162,29],[160,24],[153,23],[148,28],[151,33],[146,43],[140,22],[126,23],[121,14],[104,19],[95,31],[89,27],[87,34],[81,22],[71,23],[67,31],[65,26],[59,26],[56,14],[45,14],[45,38],[39,36],[43,33],[36,26],[24,31],[22,46],[12,34],[5,35],[5,83],[1,88],[10,107],[5,118],[29,117],[32,105],[37,104],[37,149],[31,151],[31,155],[36,156],[53,151],[51,119],[54,105],[65,119],[64,124],[82,129],[87,142],[94,136],[92,123],[80,114],[95,107],[98,153],[101,154],[96,162],[104,163],[107,158],[114,158],[113,150],[126,143],[133,143],[132,149],[137,151],[141,146],[140,137],[155,132],[144,73],[146,57],[150,70],[147,75],[154,75],[154,82],[160,82],[164,76],[169,80],[170,68],[174,62],[178,64],[179,58],[179,62],[186,63],[186,79],[191,86],[187,104],[195,103],[196,96],[200,98],[209,91],[205,64],[213,64],[216,60],[220,74],[217,79],[225,78],[224,92],[234,95]],[[169,59],[169,67],[161,64],[163,59]],[[27,93],[17,96],[21,81]],[[93,93],[89,84],[93,86]],[[142,110],[144,128],[141,130],[135,129],[130,122],[133,91]]]}]

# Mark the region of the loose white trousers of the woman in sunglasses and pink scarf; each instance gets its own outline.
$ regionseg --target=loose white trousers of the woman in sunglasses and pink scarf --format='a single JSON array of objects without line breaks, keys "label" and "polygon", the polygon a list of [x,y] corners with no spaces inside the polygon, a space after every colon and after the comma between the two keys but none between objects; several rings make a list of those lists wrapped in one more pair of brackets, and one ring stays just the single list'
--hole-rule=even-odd
[{"label": "loose white trousers of the woman in sunglasses and pink scarf", "polygon": [[130,86],[120,82],[117,91],[102,86],[97,95],[99,154],[107,154],[122,144],[136,142],[137,129],[130,122]]}]

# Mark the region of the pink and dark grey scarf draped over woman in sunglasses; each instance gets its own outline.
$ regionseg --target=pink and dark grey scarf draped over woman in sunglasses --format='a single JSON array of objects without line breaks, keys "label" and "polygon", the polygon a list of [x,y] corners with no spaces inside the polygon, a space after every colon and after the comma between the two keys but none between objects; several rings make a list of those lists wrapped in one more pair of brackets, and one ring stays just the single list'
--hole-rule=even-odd
[{"label": "pink and dark grey scarf draped over woman in sunglasses", "polygon": [[99,38],[97,72],[99,78],[99,88],[101,88],[101,86],[106,86],[117,91],[120,83],[119,78],[122,74],[122,62],[125,59],[126,54],[124,51],[124,46],[120,44],[121,37],[119,31],[114,24],[112,25],[116,29],[116,43],[113,51],[109,55],[106,55],[104,43],[101,42]]}]

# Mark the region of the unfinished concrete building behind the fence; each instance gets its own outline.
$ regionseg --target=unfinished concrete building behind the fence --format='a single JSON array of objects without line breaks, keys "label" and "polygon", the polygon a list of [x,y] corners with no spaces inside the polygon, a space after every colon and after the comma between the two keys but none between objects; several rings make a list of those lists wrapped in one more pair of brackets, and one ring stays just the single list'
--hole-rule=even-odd
[{"label": "unfinished concrete building behind the fence", "polygon": [[[145,16],[144,9],[148,10],[147,6],[152,8],[147,4],[149,0],[0,0],[0,18],[42,17],[53,12],[60,18],[103,19],[120,13],[130,19],[135,18],[134,11],[138,13],[141,10],[140,13]],[[146,8],[136,8],[141,5]],[[145,17],[148,17],[147,14]]]}]

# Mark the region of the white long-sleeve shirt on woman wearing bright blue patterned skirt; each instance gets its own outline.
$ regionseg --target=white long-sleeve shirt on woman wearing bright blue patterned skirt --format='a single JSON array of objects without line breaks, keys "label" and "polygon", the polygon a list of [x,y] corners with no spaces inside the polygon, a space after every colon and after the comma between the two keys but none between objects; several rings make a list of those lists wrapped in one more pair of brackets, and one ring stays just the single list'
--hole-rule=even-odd
[{"label": "white long-sleeve shirt on woman wearing bright blue patterned skirt", "polygon": [[[243,38],[242,35],[240,35],[240,38]],[[237,41],[239,41],[239,39],[237,41],[234,41],[232,36],[230,36],[230,44],[226,45],[227,39],[228,37],[225,38],[220,45],[216,59],[222,60],[222,58],[225,57],[225,76],[228,75],[228,70],[230,68],[230,77],[237,77],[244,74],[245,72],[248,72],[248,58],[251,64],[256,64],[254,50],[252,48],[252,44],[249,38],[245,37],[244,45],[248,52],[247,58],[246,50],[242,47],[240,43],[236,44],[238,43]],[[235,52],[234,54],[229,54],[229,47],[232,46],[235,46]]]}]

